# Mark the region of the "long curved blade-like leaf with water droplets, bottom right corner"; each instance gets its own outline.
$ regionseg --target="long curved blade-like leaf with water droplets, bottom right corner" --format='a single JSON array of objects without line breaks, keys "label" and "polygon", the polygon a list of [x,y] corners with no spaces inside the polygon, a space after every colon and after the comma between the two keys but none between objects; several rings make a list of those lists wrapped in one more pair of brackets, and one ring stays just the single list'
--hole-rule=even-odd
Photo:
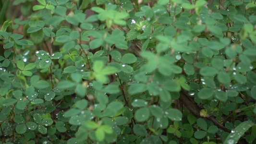
[{"label": "long curved blade-like leaf with water droplets, bottom right corner", "polygon": [[246,131],[256,124],[251,121],[244,121],[235,127],[234,130],[227,136],[223,144],[236,144]]}]

